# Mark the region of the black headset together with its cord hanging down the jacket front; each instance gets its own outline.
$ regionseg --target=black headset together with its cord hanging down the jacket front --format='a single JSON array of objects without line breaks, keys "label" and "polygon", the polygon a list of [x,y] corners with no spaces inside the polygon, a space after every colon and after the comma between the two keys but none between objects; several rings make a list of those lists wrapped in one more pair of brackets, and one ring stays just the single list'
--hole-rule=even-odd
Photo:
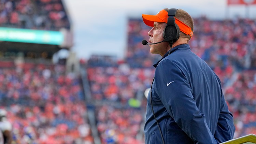
[{"label": "black headset together with its cord hanging down the jacket front", "polygon": [[[177,11],[177,9],[174,9],[174,8],[168,10],[168,21],[167,21],[167,25],[166,25],[165,29],[163,30],[163,38],[164,39],[170,39],[170,41],[169,41],[170,47],[172,47],[173,42],[176,42],[180,38],[180,35],[181,35],[180,28],[175,23],[174,16],[176,15],[176,11]],[[170,50],[170,52],[171,52],[171,50]],[[169,54],[170,54],[170,52],[169,52]],[[158,124],[158,121],[156,119],[154,109],[153,109],[153,105],[152,105],[152,91],[151,91],[151,89],[152,89],[152,85],[153,85],[154,80],[155,80],[155,77],[153,78],[153,81],[152,81],[151,87],[150,87],[151,109],[152,109],[152,112],[153,112],[153,116],[156,120],[156,124],[157,124],[158,129],[159,129],[160,134],[161,134],[162,143],[165,144],[165,141],[163,139],[163,134],[162,134],[162,131],[161,131],[160,126]]]}]

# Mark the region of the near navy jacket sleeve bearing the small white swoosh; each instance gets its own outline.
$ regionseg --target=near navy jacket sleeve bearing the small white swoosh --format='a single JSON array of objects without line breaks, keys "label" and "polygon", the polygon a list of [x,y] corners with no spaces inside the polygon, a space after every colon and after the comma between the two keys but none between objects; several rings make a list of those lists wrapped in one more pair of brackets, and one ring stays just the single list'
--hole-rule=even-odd
[{"label": "near navy jacket sleeve bearing the small white swoosh", "polygon": [[[195,100],[186,78],[186,72],[177,64],[166,59],[161,61],[156,69],[155,82],[160,100],[175,123],[196,144],[216,144],[204,114],[202,114]],[[173,82],[172,82],[173,81]],[[172,82],[167,85],[168,82]]]}]

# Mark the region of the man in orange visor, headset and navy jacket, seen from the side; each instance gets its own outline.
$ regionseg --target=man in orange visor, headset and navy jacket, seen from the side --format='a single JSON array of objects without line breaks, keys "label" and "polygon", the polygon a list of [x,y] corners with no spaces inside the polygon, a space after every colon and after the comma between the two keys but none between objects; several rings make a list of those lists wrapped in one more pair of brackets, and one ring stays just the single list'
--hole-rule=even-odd
[{"label": "man in orange visor, headset and navy jacket, seen from the side", "polygon": [[146,144],[216,144],[233,139],[233,116],[221,82],[188,45],[194,31],[191,16],[181,9],[164,9],[142,18],[153,27],[150,43],[142,43],[162,56],[154,64],[147,97]]}]

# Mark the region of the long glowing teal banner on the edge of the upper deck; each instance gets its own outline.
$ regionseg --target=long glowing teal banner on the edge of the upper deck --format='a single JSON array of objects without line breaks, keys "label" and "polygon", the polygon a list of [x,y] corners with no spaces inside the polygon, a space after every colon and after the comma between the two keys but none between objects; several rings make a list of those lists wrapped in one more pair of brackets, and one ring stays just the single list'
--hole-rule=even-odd
[{"label": "long glowing teal banner on the edge of the upper deck", "polygon": [[61,45],[64,35],[59,31],[0,27],[0,41]]}]

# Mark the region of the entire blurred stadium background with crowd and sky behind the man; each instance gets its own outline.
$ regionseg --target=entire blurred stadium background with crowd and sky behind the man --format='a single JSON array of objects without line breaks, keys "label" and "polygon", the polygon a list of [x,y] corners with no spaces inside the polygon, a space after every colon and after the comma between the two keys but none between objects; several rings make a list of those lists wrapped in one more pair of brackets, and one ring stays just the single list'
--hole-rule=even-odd
[{"label": "entire blurred stadium background with crowd and sky behind the man", "polygon": [[0,129],[12,144],[144,144],[161,57],[141,44],[141,15],[163,8],[194,18],[189,44],[221,79],[234,138],[256,134],[256,0],[0,0]]}]

